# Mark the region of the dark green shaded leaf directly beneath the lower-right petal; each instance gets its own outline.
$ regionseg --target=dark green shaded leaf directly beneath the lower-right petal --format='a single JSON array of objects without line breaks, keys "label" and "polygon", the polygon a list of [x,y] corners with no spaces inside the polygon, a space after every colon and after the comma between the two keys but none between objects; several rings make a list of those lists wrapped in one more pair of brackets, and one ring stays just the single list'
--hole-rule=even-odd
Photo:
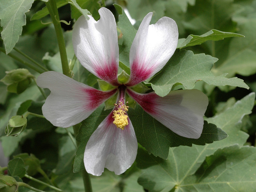
[{"label": "dark green shaded leaf directly beneath the lower-right petal", "polygon": [[152,153],[154,156],[159,156],[163,159],[167,159],[169,147],[179,145],[192,146],[192,144],[205,145],[206,143],[222,140],[228,136],[214,124],[208,124],[207,121],[204,121],[203,132],[200,138],[189,139],[182,137],[159,123],[139,105],[135,109],[129,108],[128,115],[132,121],[138,143],[149,154]]}]

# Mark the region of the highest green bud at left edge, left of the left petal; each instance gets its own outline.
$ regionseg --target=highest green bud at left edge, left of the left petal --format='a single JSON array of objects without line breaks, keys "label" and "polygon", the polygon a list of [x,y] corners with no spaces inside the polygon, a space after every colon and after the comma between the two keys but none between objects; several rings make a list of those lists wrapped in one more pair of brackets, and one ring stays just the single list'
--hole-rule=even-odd
[{"label": "highest green bud at left edge, left of the left petal", "polygon": [[7,85],[11,93],[20,94],[27,89],[34,76],[27,69],[14,69],[6,71],[6,75],[0,81]]}]

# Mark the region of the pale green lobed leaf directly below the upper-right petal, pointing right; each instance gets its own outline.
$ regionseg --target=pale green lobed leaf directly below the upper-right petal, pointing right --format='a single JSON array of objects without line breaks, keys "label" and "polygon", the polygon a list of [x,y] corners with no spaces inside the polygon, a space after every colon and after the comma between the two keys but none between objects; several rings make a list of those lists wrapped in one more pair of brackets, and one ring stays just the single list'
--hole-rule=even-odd
[{"label": "pale green lobed leaf directly below the upper-right petal, pointing right", "polygon": [[242,79],[225,78],[227,74],[214,76],[211,73],[217,58],[210,55],[194,54],[192,51],[176,51],[163,70],[150,80],[153,90],[159,96],[166,96],[176,83],[182,84],[185,89],[193,89],[197,81],[204,81],[215,86],[238,86],[249,89]]}]

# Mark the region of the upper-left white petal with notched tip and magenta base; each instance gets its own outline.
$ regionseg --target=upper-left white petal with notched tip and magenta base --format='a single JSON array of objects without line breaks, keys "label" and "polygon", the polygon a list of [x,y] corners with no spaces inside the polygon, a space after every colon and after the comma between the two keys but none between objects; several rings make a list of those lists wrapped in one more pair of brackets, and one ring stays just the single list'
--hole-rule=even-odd
[{"label": "upper-left white petal with notched tip and magenta base", "polygon": [[98,78],[117,83],[118,54],[116,21],[105,7],[99,10],[97,22],[90,15],[78,18],[73,29],[73,47],[76,57],[87,70]]}]

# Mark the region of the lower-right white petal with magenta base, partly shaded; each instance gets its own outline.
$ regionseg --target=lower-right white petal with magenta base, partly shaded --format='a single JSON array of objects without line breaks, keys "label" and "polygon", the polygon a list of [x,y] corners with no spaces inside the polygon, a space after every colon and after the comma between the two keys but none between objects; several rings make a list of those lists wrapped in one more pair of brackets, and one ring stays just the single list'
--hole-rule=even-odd
[{"label": "lower-right white petal with magenta base, partly shaded", "polygon": [[154,92],[138,94],[127,89],[128,94],[152,117],[182,137],[197,139],[203,130],[203,116],[208,97],[192,90],[170,91],[165,97]]}]

